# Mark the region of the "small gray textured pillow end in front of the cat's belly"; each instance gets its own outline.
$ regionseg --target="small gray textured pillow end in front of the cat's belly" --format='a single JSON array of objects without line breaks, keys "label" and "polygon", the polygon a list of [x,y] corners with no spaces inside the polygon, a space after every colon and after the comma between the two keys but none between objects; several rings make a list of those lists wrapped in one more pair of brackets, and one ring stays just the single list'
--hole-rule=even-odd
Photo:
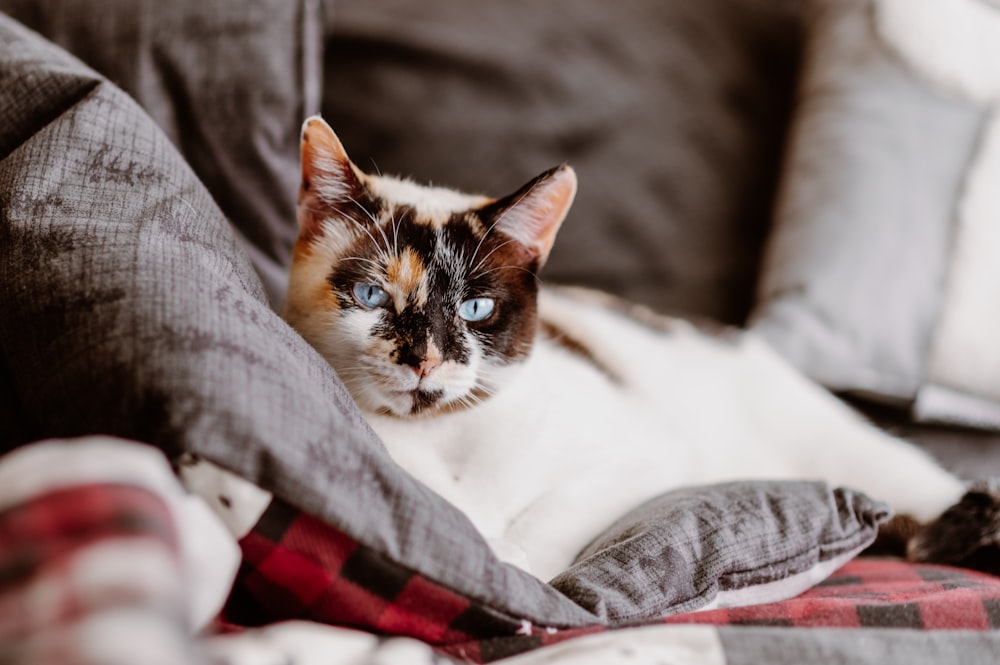
[{"label": "small gray textured pillow end in front of the cat's belly", "polygon": [[623,517],[551,584],[612,624],[678,614],[857,552],[889,515],[820,482],[679,489]]}]

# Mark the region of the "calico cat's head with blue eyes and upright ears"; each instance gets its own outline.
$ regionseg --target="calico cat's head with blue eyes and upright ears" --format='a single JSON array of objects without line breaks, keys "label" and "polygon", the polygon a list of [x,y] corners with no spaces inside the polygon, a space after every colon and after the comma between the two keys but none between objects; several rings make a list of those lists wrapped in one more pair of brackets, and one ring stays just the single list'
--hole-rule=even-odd
[{"label": "calico cat's head with blue eyes and upright ears", "polygon": [[538,271],[575,193],[568,166],[500,199],[368,175],[310,118],[284,316],[366,411],[472,406],[531,351]]}]

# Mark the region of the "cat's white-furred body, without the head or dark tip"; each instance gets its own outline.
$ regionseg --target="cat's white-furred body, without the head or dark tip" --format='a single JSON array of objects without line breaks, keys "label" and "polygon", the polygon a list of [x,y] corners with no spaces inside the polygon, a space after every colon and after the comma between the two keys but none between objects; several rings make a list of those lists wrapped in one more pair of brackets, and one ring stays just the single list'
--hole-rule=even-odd
[{"label": "cat's white-furred body, without the head or dark tip", "polygon": [[627,510],[679,486],[820,478],[922,520],[963,491],[757,339],[721,342],[682,323],[659,333],[567,293],[543,291],[539,307],[621,383],[543,340],[477,408],[370,420],[394,459],[543,579]]}]

